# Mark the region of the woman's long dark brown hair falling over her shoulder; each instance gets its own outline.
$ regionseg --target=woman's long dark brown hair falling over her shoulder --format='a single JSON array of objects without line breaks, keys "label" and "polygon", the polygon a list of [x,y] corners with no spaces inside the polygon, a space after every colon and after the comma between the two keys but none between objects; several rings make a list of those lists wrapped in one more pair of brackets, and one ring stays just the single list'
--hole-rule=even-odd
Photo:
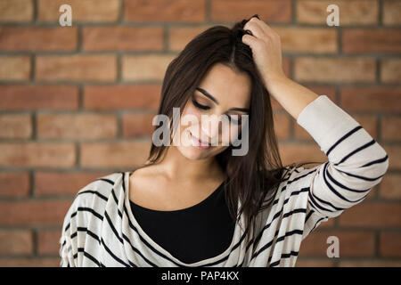
[{"label": "woman's long dark brown hair falling over her shoulder", "polygon": [[[258,15],[254,15],[258,17]],[[254,17],[252,16],[252,17]],[[250,17],[250,18],[252,18]],[[256,231],[255,216],[268,208],[273,199],[266,203],[266,196],[274,197],[277,186],[285,180],[291,167],[307,163],[292,163],[282,166],[277,139],[274,134],[273,110],[270,94],[258,73],[248,45],[241,41],[242,35],[249,33],[243,26],[248,20],[241,20],[233,28],[214,26],[194,37],[184,50],[170,62],[163,79],[159,114],[170,118],[172,129],[173,107],[179,107],[180,113],[190,99],[202,77],[217,62],[225,64],[236,72],[246,72],[251,78],[250,115],[249,115],[249,151],[244,156],[233,156],[233,145],[217,154],[220,167],[225,170],[228,183],[225,184],[225,199],[233,223],[241,222],[241,213],[245,215],[245,227]],[[159,126],[155,126],[155,130]],[[171,138],[170,138],[171,142]],[[166,154],[166,146],[151,144],[148,164],[160,162]],[[288,178],[288,177],[287,177]],[[238,199],[241,208],[238,209]],[[239,210],[236,216],[237,209]],[[240,223],[241,225],[241,223]],[[249,240],[250,235],[247,234]]]}]

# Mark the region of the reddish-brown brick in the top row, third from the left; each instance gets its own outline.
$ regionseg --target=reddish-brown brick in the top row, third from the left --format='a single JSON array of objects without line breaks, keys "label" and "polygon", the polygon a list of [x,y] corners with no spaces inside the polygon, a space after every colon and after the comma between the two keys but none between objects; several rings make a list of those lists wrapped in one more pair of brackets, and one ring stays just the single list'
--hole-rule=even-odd
[{"label": "reddish-brown brick in the top row, third from the left", "polygon": [[124,0],[124,20],[201,22],[206,20],[206,1]]}]

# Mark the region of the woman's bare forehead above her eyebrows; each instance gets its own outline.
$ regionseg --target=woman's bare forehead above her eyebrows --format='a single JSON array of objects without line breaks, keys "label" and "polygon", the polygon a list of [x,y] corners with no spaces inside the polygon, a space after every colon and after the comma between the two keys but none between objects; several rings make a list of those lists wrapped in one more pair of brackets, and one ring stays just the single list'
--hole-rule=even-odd
[{"label": "woman's bare forehead above her eyebrows", "polygon": [[215,97],[220,105],[239,108],[250,106],[251,81],[244,72],[237,73],[217,63],[208,70],[200,86]]}]

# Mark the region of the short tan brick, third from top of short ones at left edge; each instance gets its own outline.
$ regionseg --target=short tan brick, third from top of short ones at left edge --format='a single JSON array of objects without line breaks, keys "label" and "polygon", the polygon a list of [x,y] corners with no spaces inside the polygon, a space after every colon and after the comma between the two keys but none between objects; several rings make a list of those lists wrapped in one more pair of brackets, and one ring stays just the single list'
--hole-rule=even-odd
[{"label": "short tan brick, third from top of short ones at left edge", "polygon": [[0,115],[1,138],[29,138],[32,135],[32,120],[29,114]]}]

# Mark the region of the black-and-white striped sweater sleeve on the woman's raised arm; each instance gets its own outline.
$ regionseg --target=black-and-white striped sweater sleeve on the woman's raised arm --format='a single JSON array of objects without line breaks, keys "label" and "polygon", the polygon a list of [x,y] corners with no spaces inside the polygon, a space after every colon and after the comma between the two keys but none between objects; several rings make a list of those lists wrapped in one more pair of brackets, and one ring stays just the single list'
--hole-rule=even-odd
[{"label": "black-and-white striped sweater sleeve on the woman's raised arm", "polygon": [[310,178],[303,239],[322,222],[360,203],[381,182],[389,157],[354,118],[326,95],[304,108],[297,123],[310,134],[328,161],[299,167]]}]

